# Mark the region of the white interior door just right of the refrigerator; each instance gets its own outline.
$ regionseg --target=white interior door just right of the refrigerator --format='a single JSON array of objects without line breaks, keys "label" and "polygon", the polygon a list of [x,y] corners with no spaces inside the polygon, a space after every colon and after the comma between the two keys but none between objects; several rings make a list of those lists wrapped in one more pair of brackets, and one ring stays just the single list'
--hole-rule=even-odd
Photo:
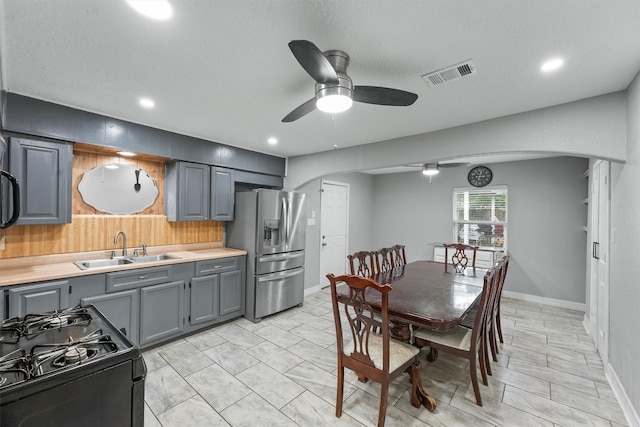
[{"label": "white interior door just right of the refrigerator", "polygon": [[349,184],[322,181],[320,194],[320,287],[326,275],[346,273],[349,225]]}]

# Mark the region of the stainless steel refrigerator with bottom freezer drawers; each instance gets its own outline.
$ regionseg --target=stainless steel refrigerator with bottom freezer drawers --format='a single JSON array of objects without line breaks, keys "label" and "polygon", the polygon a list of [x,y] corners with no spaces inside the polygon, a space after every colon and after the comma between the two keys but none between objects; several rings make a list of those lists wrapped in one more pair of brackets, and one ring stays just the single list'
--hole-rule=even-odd
[{"label": "stainless steel refrigerator with bottom freezer drawers", "polygon": [[305,194],[236,193],[227,246],[247,251],[245,317],[253,322],[304,300]]}]

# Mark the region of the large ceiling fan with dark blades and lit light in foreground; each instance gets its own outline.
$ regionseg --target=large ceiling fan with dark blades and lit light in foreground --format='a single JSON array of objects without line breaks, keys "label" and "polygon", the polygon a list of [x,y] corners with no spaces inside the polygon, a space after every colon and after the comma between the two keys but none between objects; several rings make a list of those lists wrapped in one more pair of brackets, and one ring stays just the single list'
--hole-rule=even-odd
[{"label": "large ceiling fan with dark blades and lit light in foreground", "polygon": [[403,90],[379,86],[354,86],[347,75],[349,55],[341,50],[322,52],[307,40],[293,40],[289,48],[302,68],[316,81],[316,95],[287,114],[283,122],[298,120],[318,108],[339,113],[351,107],[353,101],[367,104],[409,106],[418,95]]}]

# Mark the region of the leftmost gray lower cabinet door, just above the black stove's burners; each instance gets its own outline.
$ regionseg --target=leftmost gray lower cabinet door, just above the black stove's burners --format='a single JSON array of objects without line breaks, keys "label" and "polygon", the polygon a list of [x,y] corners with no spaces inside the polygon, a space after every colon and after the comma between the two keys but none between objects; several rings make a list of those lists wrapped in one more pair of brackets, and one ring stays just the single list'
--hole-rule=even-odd
[{"label": "leftmost gray lower cabinet door, just above the black stove's burners", "polygon": [[9,289],[9,317],[40,314],[69,306],[69,281],[38,283]]}]

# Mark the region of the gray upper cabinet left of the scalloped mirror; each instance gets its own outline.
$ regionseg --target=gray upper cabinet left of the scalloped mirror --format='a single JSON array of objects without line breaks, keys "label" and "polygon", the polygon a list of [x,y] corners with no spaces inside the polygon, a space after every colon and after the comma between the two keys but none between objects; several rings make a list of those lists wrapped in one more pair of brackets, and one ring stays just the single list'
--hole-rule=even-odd
[{"label": "gray upper cabinet left of the scalloped mirror", "polygon": [[71,222],[71,144],[10,138],[9,169],[20,183],[17,224]]}]

